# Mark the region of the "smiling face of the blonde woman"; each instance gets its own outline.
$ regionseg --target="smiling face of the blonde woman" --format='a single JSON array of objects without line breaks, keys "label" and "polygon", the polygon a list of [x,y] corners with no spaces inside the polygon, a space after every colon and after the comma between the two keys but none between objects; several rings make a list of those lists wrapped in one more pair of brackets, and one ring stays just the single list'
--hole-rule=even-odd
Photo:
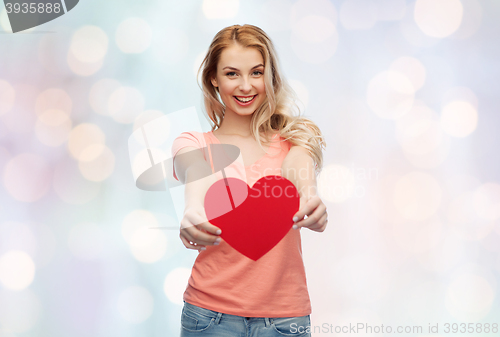
[{"label": "smiling face of the blonde woman", "polygon": [[212,84],[219,88],[226,113],[253,114],[266,98],[262,55],[255,48],[238,44],[224,49]]}]

